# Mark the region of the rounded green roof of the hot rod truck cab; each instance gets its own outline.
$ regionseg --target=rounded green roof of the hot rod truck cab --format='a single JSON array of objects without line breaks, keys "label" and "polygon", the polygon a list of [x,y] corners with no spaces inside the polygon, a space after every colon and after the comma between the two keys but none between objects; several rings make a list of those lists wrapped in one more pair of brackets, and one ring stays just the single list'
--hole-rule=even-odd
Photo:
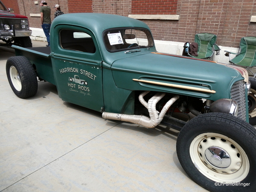
[{"label": "rounded green roof of the hot rod truck cab", "polygon": [[[93,33],[102,35],[105,29],[116,27],[143,27],[148,26],[140,20],[124,17],[120,15],[102,14],[102,13],[70,13],[56,17],[52,26],[58,24],[72,24],[90,29]],[[53,27],[54,28],[54,27]]]}]

